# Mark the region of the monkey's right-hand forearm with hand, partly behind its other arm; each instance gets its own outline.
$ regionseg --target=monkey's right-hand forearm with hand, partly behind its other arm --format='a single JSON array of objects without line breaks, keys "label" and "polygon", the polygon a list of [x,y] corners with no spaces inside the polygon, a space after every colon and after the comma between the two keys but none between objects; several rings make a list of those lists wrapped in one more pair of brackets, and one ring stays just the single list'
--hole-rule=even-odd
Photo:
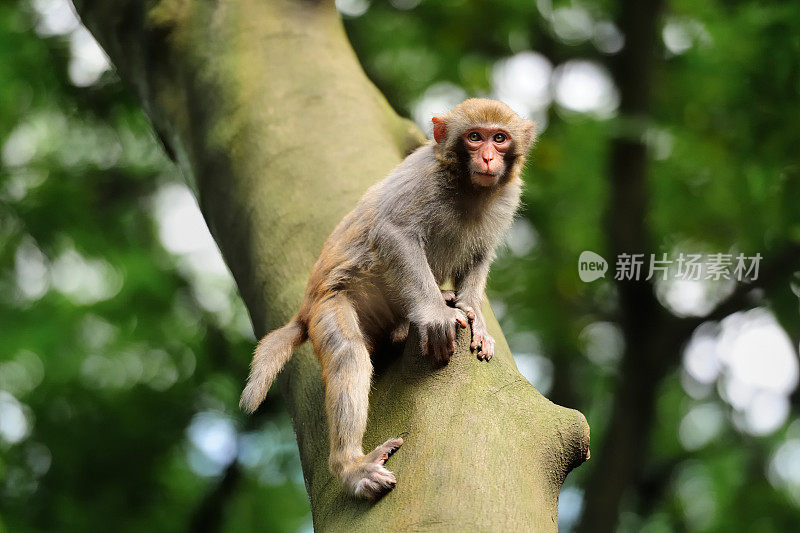
[{"label": "monkey's right-hand forearm with hand, partly behind its other arm", "polygon": [[489,335],[486,329],[486,322],[483,320],[481,303],[483,302],[483,291],[486,289],[486,278],[489,275],[489,266],[492,263],[491,255],[484,255],[476,261],[455,280],[456,285],[456,307],[464,311],[467,315],[472,311],[474,319],[472,324],[472,343],[471,349],[479,348],[478,359],[488,361],[494,356],[494,338]]}]

